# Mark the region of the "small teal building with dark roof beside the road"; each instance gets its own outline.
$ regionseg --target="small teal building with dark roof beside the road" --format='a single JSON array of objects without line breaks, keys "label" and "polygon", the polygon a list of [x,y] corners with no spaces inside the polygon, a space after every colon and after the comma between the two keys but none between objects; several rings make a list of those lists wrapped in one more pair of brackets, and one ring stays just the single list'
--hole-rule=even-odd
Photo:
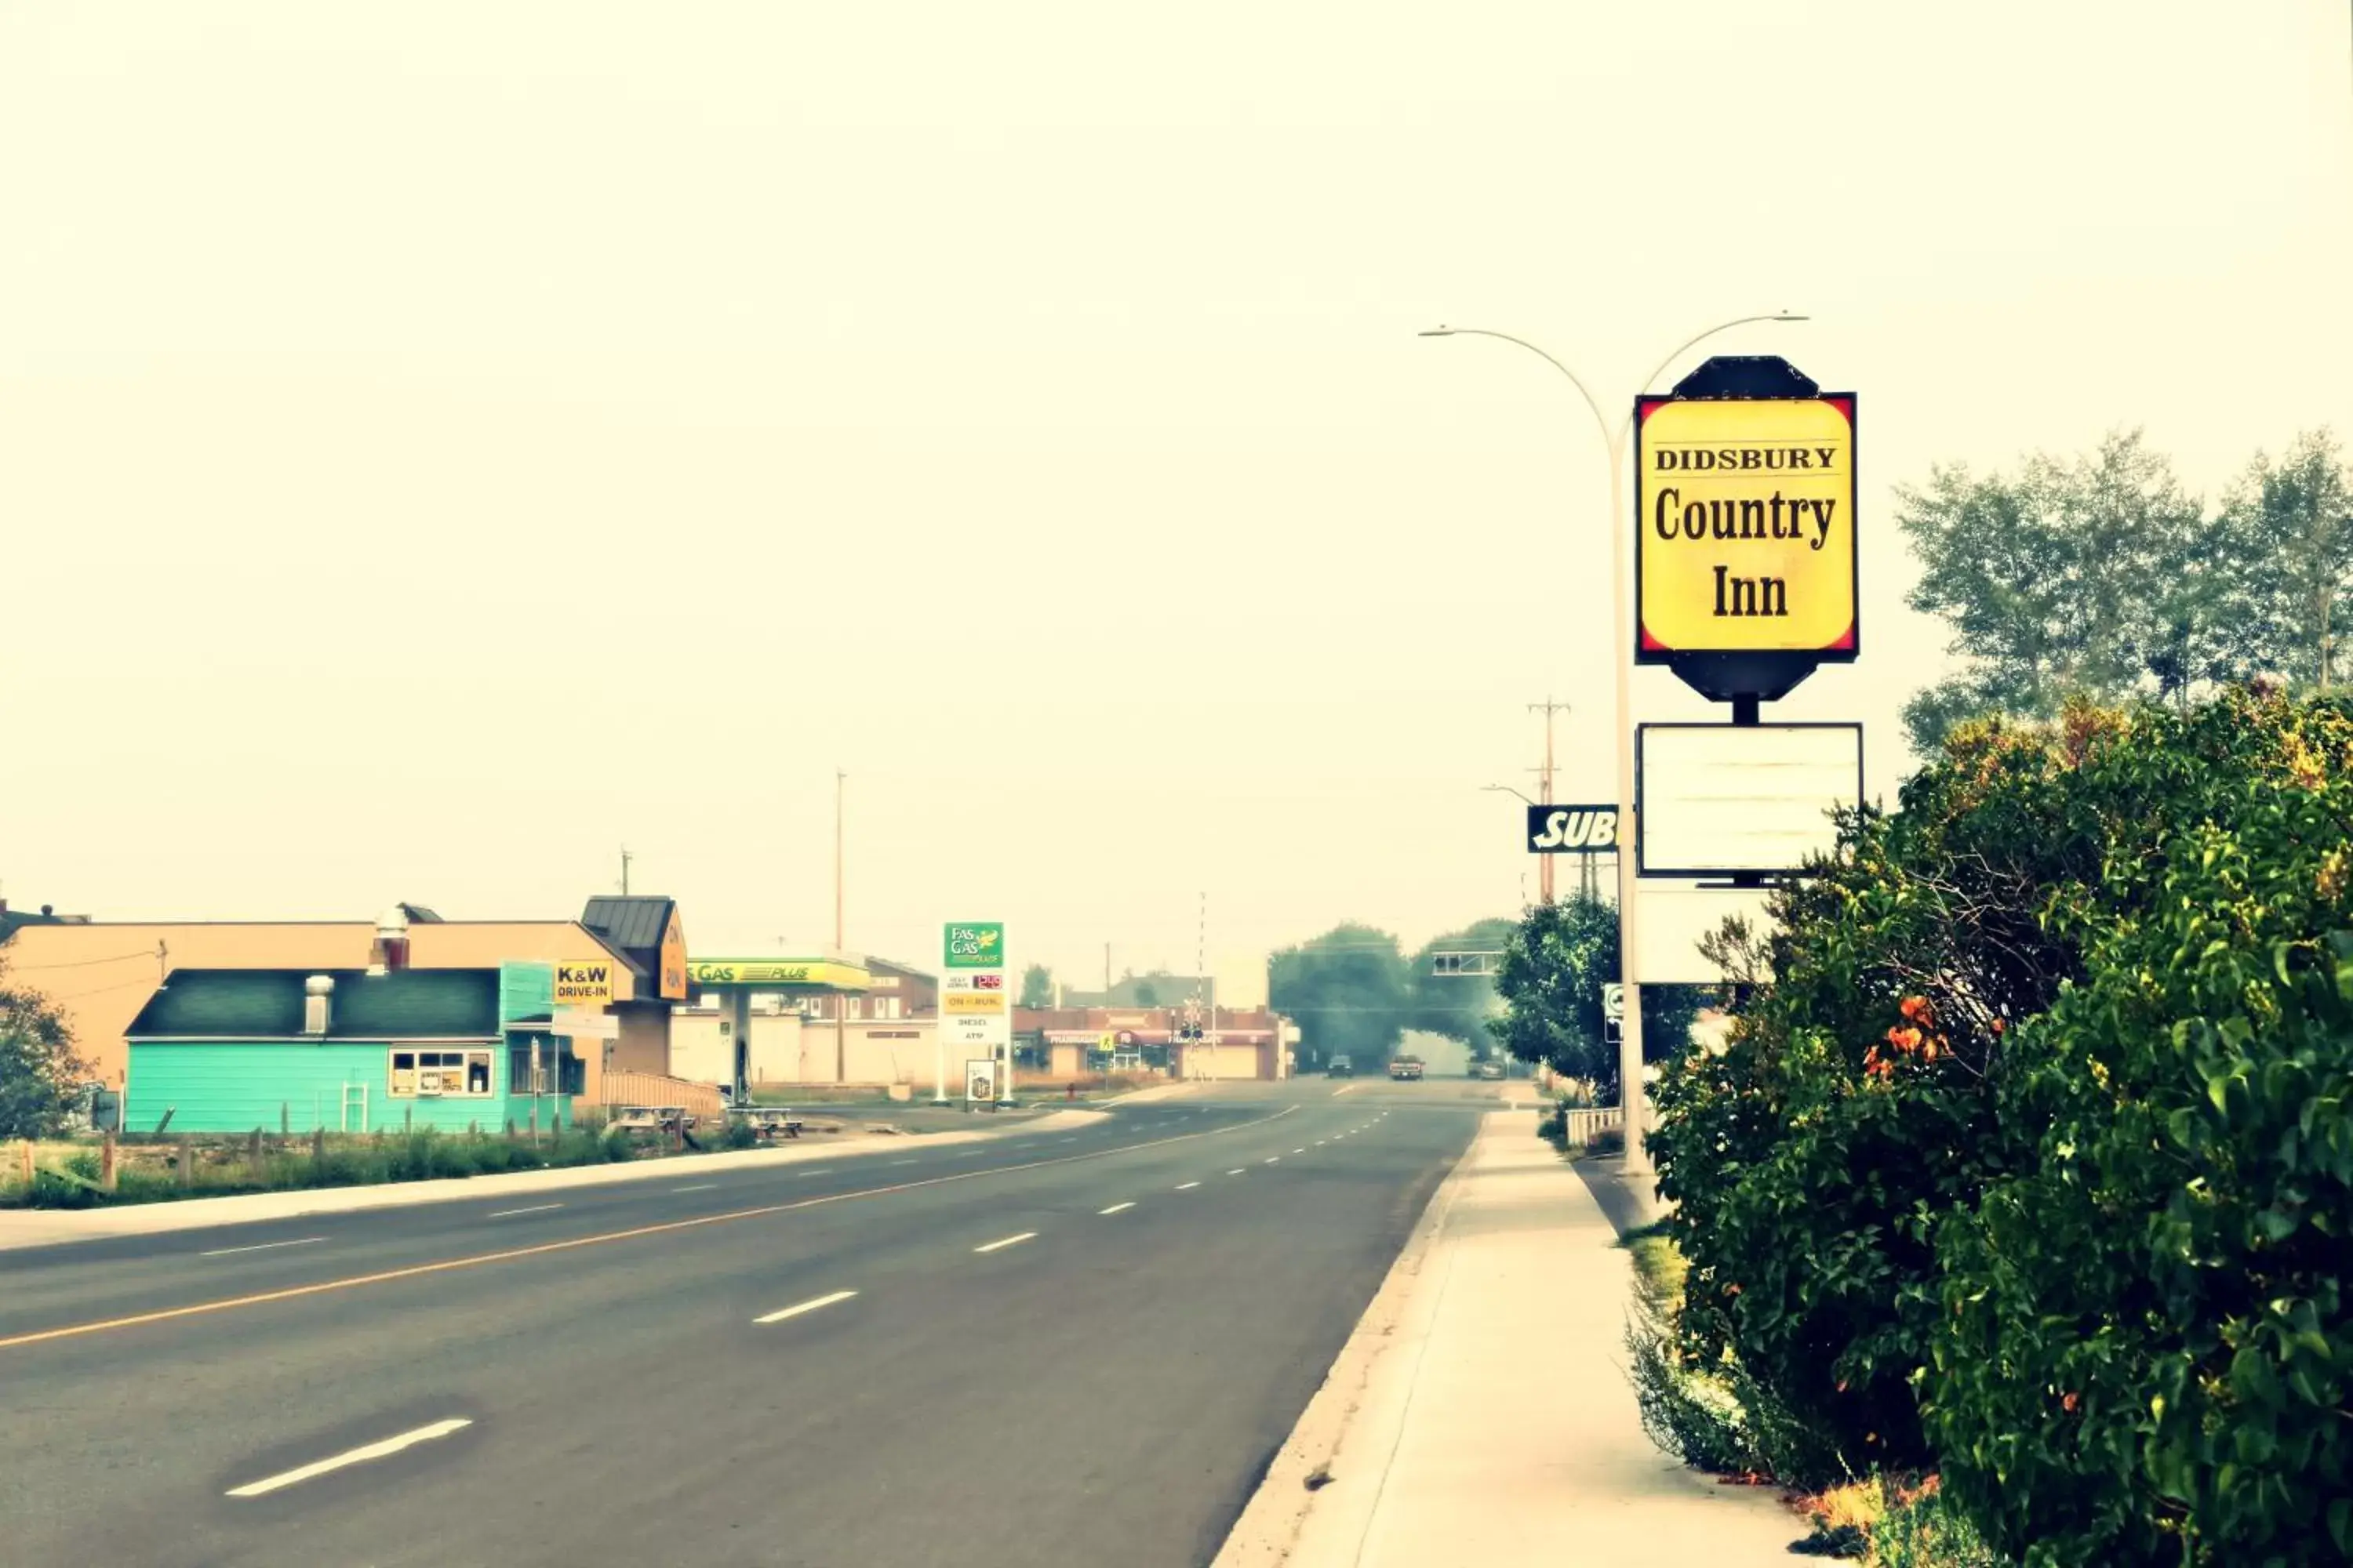
[{"label": "small teal building with dark roof beside the road", "polygon": [[567,1126],[584,1067],[555,969],[179,969],[125,1032],[122,1126],[369,1133]]}]

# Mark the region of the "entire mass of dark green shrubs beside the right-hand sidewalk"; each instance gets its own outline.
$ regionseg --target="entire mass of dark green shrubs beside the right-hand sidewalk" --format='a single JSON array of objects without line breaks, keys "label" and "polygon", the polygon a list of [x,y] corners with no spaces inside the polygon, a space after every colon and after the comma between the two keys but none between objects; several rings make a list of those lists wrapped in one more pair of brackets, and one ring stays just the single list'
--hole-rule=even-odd
[{"label": "entire mass of dark green shrubs beside the right-hand sidewalk", "polygon": [[1682,1363],[2028,1563],[2353,1556],[2346,701],[1979,724],[1901,804],[1661,1081]]}]

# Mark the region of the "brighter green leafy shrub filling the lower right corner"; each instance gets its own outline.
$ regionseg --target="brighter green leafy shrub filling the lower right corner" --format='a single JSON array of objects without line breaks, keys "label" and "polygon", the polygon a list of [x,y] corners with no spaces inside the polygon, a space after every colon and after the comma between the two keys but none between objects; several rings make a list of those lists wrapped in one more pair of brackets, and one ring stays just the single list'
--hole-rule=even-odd
[{"label": "brighter green leafy shrub filling the lower right corner", "polygon": [[2089,973],[2002,1086],[2035,1159],[1944,1234],[1929,1429],[2033,1566],[2353,1561],[2353,724],[2280,710],[2054,912]]}]

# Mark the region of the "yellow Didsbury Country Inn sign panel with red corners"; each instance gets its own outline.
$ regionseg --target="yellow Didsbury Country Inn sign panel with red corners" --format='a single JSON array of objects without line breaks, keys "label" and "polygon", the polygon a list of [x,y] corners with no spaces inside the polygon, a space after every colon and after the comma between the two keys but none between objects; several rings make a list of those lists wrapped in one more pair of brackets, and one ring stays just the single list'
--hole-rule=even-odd
[{"label": "yellow Didsbury Country Inn sign panel with red corners", "polygon": [[1635,661],[1859,651],[1854,393],[1635,404]]}]

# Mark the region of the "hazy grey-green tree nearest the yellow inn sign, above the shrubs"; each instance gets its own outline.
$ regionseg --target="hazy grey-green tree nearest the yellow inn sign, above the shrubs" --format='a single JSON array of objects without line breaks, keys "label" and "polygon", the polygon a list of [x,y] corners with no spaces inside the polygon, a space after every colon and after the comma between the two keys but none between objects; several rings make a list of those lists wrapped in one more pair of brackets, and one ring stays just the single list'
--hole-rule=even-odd
[{"label": "hazy grey-green tree nearest the yellow inn sign, above the shrubs", "polygon": [[2172,465],[2118,430],[2080,458],[2033,456],[2017,475],[1934,468],[1897,491],[1920,557],[1908,604],[1944,616],[1962,672],[1904,708],[1913,750],[1934,752],[1979,712],[2054,717],[2068,696],[2226,679],[2226,552]]}]

